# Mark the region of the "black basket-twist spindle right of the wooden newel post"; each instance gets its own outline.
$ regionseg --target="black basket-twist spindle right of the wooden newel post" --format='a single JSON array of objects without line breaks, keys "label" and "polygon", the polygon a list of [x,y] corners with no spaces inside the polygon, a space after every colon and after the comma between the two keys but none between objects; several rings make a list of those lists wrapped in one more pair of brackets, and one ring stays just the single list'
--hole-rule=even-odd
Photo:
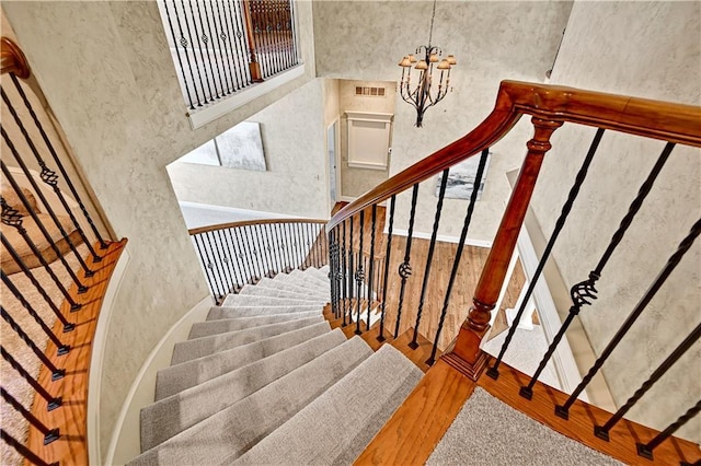
[{"label": "black basket-twist spindle right of the wooden newel post", "polygon": [[590,305],[591,301],[589,300],[597,299],[595,294],[597,293],[596,283],[601,278],[601,273],[604,272],[604,267],[606,266],[609,258],[611,257],[611,255],[620,244],[621,240],[623,240],[623,235],[625,234],[629,226],[633,222],[633,219],[635,218],[635,214],[642,207],[643,201],[647,197],[647,194],[650,194],[650,191],[652,190],[655,179],[657,179],[657,176],[662,172],[662,168],[665,165],[665,162],[667,162],[667,160],[669,159],[669,154],[671,154],[674,147],[675,144],[673,142],[668,142],[663,149],[662,153],[659,154],[659,158],[657,159],[657,162],[653,166],[653,170],[650,172],[650,175],[647,176],[645,182],[641,185],[641,188],[637,191],[637,196],[631,203],[628,210],[628,213],[625,214],[625,217],[623,217],[623,220],[621,220],[621,223],[618,230],[616,231],[616,233],[613,233],[613,236],[611,237],[611,242],[609,243],[608,247],[606,248],[606,252],[601,256],[601,259],[599,260],[599,264],[596,266],[596,269],[589,272],[589,278],[587,280],[584,280],[575,284],[574,287],[572,287],[572,290],[570,291],[570,294],[572,296],[572,307],[570,307],[570,313],[565,318],[565,322],[563,322],[562,326],[560,327],[560,330],[558,330],[558,334],[554,336],[552,342],[548,347],[548,351],[545,352],[542,360],[538,364],[538,369],[533,373],[533,376],[528,383],[528,386],[521,387],[519,393],[522,397],[530,399],[530,397],[532,396],[532,389],[533,389],[533,386],[536,385],[536,382],[538,381],[538,377],[540,376],[541,372],[545,369],[545,364],[548,363],[552,354],[555,352],[558,345],[560,345],[560,341],[562,340],[565,333],[567,331],[567,328],[570,328],[570,325],[574,321],[574,317],[582,310],[582,306],[584,306],[585,304]]}]

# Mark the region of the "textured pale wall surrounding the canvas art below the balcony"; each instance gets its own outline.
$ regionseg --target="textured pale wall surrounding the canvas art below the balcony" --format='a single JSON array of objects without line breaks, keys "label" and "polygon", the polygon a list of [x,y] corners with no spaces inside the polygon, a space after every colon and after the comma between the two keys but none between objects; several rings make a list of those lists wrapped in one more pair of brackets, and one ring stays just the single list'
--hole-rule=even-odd
[{"label": "textured pale wall surrounding the canvas art below the balcony", "polygon": [[321,84],[309,82],[246,119],[261,124],[267,171],[175,162],[168,173],[177,199],[327,218]]}]

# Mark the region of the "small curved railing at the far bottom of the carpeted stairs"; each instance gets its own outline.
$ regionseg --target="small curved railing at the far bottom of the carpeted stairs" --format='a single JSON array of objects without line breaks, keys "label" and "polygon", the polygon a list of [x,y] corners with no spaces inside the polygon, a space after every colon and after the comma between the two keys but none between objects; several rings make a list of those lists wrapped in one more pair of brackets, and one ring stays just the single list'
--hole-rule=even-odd
[{"label": "small curved railing at the far bottom of the carpeted stairs", "polygon": [[329,264],[325,220],[260,219],[191,229],[209,291],[227,294],[263,277]]}]

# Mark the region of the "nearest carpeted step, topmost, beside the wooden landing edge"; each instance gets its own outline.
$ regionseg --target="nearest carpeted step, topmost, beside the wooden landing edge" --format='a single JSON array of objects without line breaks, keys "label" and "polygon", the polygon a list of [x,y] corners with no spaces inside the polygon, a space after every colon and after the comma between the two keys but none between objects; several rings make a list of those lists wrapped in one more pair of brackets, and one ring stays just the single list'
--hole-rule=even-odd
[{"label": "nearest carpeted step, topmost, beside the wooden landing edge", "polygon": [[386,345],[243,456],[226,463],[352,464],[422,375]]}]

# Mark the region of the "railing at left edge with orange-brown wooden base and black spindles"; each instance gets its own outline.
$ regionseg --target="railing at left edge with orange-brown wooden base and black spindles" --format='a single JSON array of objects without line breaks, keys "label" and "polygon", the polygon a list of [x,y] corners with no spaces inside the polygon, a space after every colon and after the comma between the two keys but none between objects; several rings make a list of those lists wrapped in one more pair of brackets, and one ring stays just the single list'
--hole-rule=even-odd
[{"label": "railing at left edge with orange-brown wooden base and black spindles", "polygon": [[102,222],[93,221],[80,178],[69,175],[67,148],[37,107],[35,97],[43,96],[35,95],[26,58],[11,39],[2,37],[1,45],[0,94],[9,117],[0,124],[0,314],[11,329],[1,348],[2,457],[87,464],[90,351],[124,242],[106,240]]}]

